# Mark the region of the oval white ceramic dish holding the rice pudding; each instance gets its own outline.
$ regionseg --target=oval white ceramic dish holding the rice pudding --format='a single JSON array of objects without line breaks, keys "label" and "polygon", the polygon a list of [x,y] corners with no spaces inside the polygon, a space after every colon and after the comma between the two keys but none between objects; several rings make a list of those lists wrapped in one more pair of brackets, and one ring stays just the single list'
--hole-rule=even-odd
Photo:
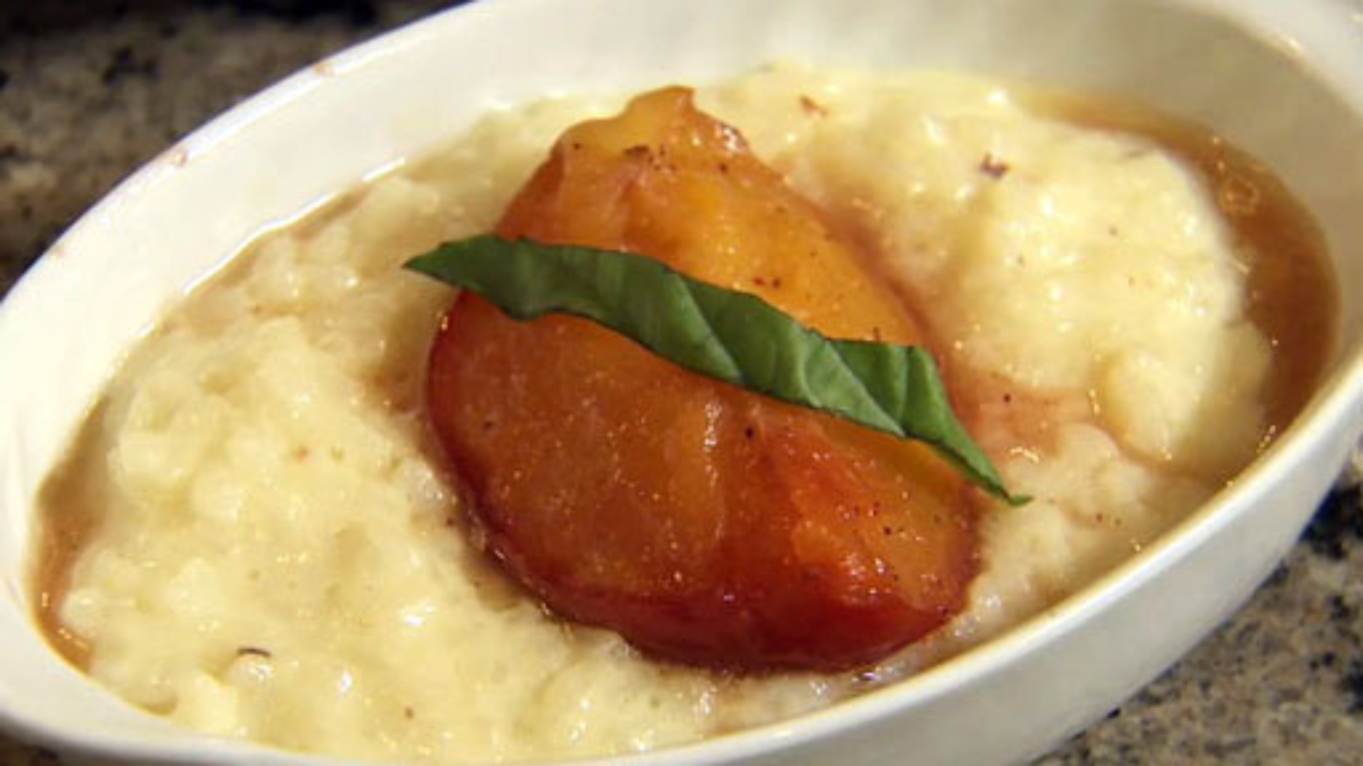
[{"label": "oval white ceramic dish holding the rice pudding", "polygon": [[[1352,8],[1352,10],[1351,10]],[[151,162],[0,309],[0,722],[74,756],[327,763],[172,728],[34,630],[37,488],[120,354],[269,224],[492,105],[709,80],[774,57],[946,67],[1124,94],[1224,132],[1322,224],[1341,350],[1261,461],[1047,616],[834,709],[630,763],[995,763],[1052,747],[1224,619],[1296,538],[1363,431],[1363,11],[1293,0],[492,0],[318,64]]]}]

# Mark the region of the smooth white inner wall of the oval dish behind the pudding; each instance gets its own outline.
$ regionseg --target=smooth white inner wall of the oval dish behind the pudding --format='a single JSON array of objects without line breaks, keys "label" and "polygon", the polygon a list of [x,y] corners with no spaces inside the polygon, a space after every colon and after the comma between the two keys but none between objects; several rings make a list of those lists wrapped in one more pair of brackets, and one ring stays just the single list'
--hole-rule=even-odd
[{"label": "smooth white inner wall of the oval dish behind the pudding", "polygon": [[[0,717],[86,744],[199,741],[83,681],[30,627],[26,551],[40,484],[128,345],[196,281],[262,229],[421,155],[497,105],[706,82],[773,59],[968,70],[1150,104],[1250,150],[1317,214],[1343,288],[1323,394],[1356,397],[1363,29],[1343,7],[1304,5],[492,0],[300,72],[127,181],[0,309]],[[969,662],[950,671],[964,679]]]}]

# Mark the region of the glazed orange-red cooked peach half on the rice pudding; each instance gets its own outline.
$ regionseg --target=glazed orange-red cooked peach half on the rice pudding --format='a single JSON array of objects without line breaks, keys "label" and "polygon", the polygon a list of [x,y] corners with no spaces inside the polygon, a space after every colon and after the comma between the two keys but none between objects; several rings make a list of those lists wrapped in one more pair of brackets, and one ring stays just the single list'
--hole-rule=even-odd
[{"label": "glazed orange-red cooked peach half on the rice pudding", "polygon": [[[923,339],[860,254],[683,89],[568,129],[497,233],[645,254],[827,335]],[[429,409],[492,553],[557,613],[664,658],[871,662],[960,611],[976,571],[976,495],[928,448],[582,319],[514,322],[462,293]]]}]

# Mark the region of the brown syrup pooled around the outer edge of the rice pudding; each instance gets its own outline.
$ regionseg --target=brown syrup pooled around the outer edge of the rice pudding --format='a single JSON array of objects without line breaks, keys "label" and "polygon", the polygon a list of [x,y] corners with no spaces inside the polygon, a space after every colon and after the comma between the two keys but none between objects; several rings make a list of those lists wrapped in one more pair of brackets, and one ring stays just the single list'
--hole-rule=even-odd
[{"label": "brown syrup pooled around the outer edge of the rice pudding", "polygon": [[[1311,215],[1266,166],[1205,128],[1108,98],[1032,90],[1015,95],[1045,117],[1145,136],[1206,179],[1243,259],[1249,315],[1273,348],[1264,395],[1269,432],[1261,446],[1266,446],[1310,399],[1336,348],[1338,294],[1325,237]],[[1006,170],[998,162],[983,158],[981,172]],[[341,195],[293,226],[315,228],[352,209],[363,191]],[[230,282],[255,249],[248,248],[218,278]],[[104,410],[101,399],[70,454],[44,482],[30,570],[37,624],[52,646],[80,668],[89,662],[90,647],[63,626],[60,605],[72,567],[105,510],[105,455],[97,439]]]}]

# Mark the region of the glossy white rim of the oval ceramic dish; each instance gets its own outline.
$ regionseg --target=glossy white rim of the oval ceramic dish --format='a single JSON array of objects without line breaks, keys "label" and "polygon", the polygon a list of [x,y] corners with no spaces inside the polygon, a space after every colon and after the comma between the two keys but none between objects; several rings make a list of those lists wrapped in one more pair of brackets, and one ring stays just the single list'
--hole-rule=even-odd
[{"label": "glossy white rim of the oval ceramic dish", "polygon": [[[1307,8],[1315,11],[1318,16],[1323,16],[1326,12],[1333,12],[1330,10],[1333,7],[1328,7],[1326,1],[1302,0],[1300,5],[1293,5],[1293,11]],[[188,135],[181,136],[164,153],[147,161],[131,176],[116,184],[98,203],[83,213],[53,241],[48,251],[15,281],[8,294],[4,296],[4,301],[0,303],[0,322],[5,320],[11,312],[11,307],[16,303],[11,300],[14,296],[42,289],[46,282],[45,274],[50,269],[59,267],[59,259],[50,254],[65,247],[72,236],[91,219],[109,214],[123,199],[138,195],[146,187],[158,183],[165,172],[165,162],[162,159],[166,155],[183,151],[185,157],[194,158],[213,151],[218,144],[234,136],[243,127],[269,119],[270,114],[289,106],[308,91],[323,86],[333,78],[345,76],[373,57],[386,56],[403,48],[420,35],[429,33],[433,25],[457,23],[457,19],[477,14],[499,12],[503,5],[514,4],[548,5],[549,3],[547,0],[478,0],[416,19],[372,40],[327,56],[319,63],[304,67],[264,90],[255,93],[226,112],[219,113]],[[1184,12],[1213,14],[1221,16],[1221,20],[1225,23],[1265,34],[1266,27],[1281,23],[1287,14],[1287,11],[1274,11],[1273,0],[1148,0],[1148,4],[1179,8]],[[1231,8],[1235,8],[1236,12],[1232,14]],[[1337,10],[1347,11],[1343,5]],[[1353,19],[1363,29],[1363,12],[1356,14]],[[1264,26],[1246,27],[1246,25]],[[1284,40],[1289,48],[1296,48],[1296,52],[1300,53],[1300,44],[1287,33],[1280,40],[1265,38],[1264,42],[1265,45],[1281,45]],[[1353,60],[1363,61],[1363,55],[1355,56]],[[1328,60],[1323,65],[1332,67],[1338,64],[1338,61],[1332,61]],[[1315,79],[1334,86],[1334,95],[1341,95],[1337,79],[1323,78],[1318,67],[1311,65],[1304,59],[1299,57],[1299,63]],[[1334,74],[1338,74],[1338,71],[1336,70]],[[1363,104],[1363,75],[1359,75],[1352,86],[1347,86],[1344,94],[1349,98],[1341,98],[1341,101],[1349,104],[1352,112],[1359,117],[1360,124],[1363,124],[1363,110],[1359,109],[1359,105]],[[322,202],[326,200],[318,200],[318,203]],[[277,226],[278,221],[271,221],[260,226],[259,232],[269,232]],[[251,240],[255,240],[256,236],[259,234],[254,234]],[[239,252],[240,248],[228,254],[226,259],[234,258]],[[972,680],[985,677],[991,672],[1009,667],[1037,647],[1078,628],[1093,615],[1103,612],[1112,602],[1123,600],[1130,592],[1156,578],[1161,571],[1193,555],[1204,542],[1216,536],[1219,530],[1231,525],[1238,517],[1253,507],[1257,497],[1262,496],[1272,485],[1280,482],[1293,470],[1293,466],[1308,459],[1313,444],[1323,439],[1334,427],[1333,424],[1348,421],[1352,417],[1352,420],[1358,421],[1358,427],[1352,432],[1356,435],[1358,431],[1363,429],[1363,417],[1355,413],[1359,403],[1363,403],[1363,346],[1355,343],[1356,348],[1353,349],[1343,349],[1338,348],[1340,342],[1340,339],[1336,341],[1337,348],[1333,369],[1322,379],[1310,402],[1298,413],[1291,425],[1242,470],[1235,480],[1217,491],[1213,497],[1202,503],[1191,514],[1169,526],[1142,551],[1089,581],[1062,601],[1006,628],[1002,634],[917,671],[902,680],[791,718],[706,737],[701,741],[664,746],[649,752],[555,759],[553,763],[590,762],[619,766],[680,766],[777,754],[781,750],[826,737],[837,731],[855,729],[875,720],[902,714],[912,707],[928,703],[951,688],[962,687]],[[31,613],[27,617],[31,620]],[[80,675],[86,683],[99,688],[114,703],[123,705],[147,718],[164,721],[162,717],[124,701],[113,691],[90,680],[83,672],[70,665],[56,653],[35,626],[30,624],[29,627],[40,635],[40,639],[52,652],[55,664],[63,664],[68,671]],[[68,754],[87,756],[114,755],[119,758],[136,758],[147,763],[219,763],[225,758],[245,755],[256,758],[262,763],[281,765],[371,763],[367,761],[288,751],[248,740],[218,737],[198,732],[192,732],[195,735],[194,739],[180,741],[128,741],[110,736],[72,732],[52,721],[38,720],[10,706],[0,706],[0,731],[12,732],[26,741],[50,746]]]}]

